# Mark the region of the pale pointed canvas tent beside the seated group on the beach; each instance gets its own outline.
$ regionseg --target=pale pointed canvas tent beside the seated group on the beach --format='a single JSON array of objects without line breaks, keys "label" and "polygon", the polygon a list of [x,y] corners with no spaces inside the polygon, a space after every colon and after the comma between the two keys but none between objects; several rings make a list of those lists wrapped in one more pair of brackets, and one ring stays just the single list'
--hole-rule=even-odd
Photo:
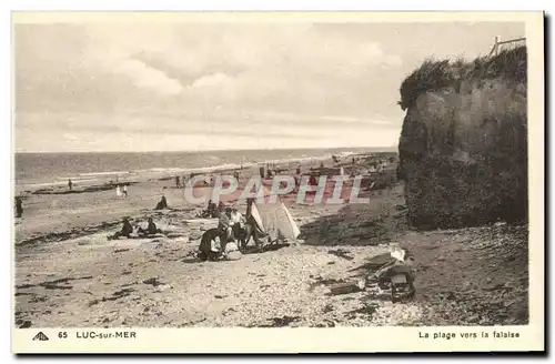
[{"label": "pale pointed canvas tent beside the seated group on the beach", "polygon": [[263,201],[254,199],[250,213],[256,223],[256,232],[261,236],[270,236],[270,241],[278,239],[294,241],[301,234],[293,216],[280,196],[270,202],[271,192],[263,186]]}]

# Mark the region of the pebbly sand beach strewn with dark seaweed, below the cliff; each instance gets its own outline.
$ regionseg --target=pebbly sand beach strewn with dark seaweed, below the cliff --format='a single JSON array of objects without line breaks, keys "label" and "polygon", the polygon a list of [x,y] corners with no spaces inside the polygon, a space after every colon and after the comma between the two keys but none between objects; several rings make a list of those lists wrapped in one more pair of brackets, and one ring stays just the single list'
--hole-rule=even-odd
[{"label": "pebbly sand beach strewn with dark seaweed, below the cliff", "polygon": [[[363,174],[373,159],[339,164]],[[28,193],[16,225],[17,326],[525,324],[526,226],[412,231],[395,172],[391,163],[386,183],[361,194],[366,204],[297,204],[283,196],[299,241],[231,262],[195,259],[203,231],[218,220],[196,218],[204,205],[188,204],[171,176],[142,176],[127,199],[113,190]],[[154,211],[162,194],[171,210]],[[164,234],[109,241],[122,216],[152,216]],[[363,276],[369,259],[395,246],[415,257],[413,301],[392,303],[365,291],[330,295],[331,284]]]}]

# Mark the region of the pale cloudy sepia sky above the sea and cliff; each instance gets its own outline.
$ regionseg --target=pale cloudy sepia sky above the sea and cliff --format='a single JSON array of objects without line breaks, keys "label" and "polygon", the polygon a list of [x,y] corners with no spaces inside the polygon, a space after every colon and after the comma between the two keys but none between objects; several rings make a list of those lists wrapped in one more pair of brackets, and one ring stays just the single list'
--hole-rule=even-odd
[{"label": "pale cloudy sepia sky above the sea and cliff", "polygon": [[18,152],[394,146],[404,78],[524,23],[14,26]]}]

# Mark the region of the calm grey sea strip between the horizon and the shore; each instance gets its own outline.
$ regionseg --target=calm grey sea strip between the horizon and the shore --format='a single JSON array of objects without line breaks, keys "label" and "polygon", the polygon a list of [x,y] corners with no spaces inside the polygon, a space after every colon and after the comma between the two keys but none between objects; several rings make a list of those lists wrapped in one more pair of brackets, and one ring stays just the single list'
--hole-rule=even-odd
[{"label": "calm grey sea strip between the horizon and the shore", "polygon": [[144,173],[194,173],[214,169],[238,169],[259,163],[331,158],[394,149],[290,149],[199,152],[16,153],[18,186],[46,188],[74,182],[95,183],[130,179]]}]

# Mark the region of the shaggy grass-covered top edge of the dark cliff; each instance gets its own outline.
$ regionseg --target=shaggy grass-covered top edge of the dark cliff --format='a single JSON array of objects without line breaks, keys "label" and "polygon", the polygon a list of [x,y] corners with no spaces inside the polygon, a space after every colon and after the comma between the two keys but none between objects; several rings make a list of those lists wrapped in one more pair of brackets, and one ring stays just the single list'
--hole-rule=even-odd
[{"label": "shaggy grass-covered top edge of the dark cliff", "polygon": [[430,90],[446,87],[460,89],[461,81],[495,79],[503,77],[517,82],[526,82],[526,46],[501,51],[494,57],[478,57],[474,61],[427,59],[401,84],[403,110],[412,107],[418,95]]}]

